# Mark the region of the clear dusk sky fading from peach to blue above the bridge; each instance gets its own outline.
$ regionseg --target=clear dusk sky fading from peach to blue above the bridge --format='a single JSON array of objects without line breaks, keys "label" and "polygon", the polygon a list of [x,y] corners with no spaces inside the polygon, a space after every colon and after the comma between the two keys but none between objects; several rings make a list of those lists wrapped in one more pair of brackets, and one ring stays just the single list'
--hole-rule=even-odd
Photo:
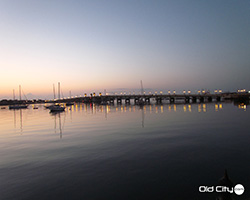
[{"label": "clear dusk sky fading from peach to blue above the bridge", "polygon": [[249,0],[0,0],[0,99],[250,90]]}]

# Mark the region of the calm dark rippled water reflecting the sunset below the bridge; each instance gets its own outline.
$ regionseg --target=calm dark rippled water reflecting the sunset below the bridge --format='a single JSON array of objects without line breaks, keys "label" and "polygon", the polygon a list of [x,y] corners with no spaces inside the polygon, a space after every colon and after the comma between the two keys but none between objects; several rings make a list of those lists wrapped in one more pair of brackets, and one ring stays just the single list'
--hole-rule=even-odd
[{"label": "calm dark rippled water reflecting the sunset below the bridge", "polygon": [[250,198],[250,110],[233,103],[0,110],[0,199]]}]

